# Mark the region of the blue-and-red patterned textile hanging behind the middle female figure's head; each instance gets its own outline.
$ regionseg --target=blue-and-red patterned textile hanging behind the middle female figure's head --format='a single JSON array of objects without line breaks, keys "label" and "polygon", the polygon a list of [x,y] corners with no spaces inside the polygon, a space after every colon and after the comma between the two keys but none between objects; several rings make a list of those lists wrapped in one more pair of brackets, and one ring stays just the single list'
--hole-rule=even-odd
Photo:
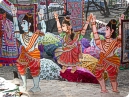
[{"label": "blue-and-red patterned textile hanging behind the middle female figure's head", "polygon": [[[66,2],[67,1],[67,2]],[[74,31],[82,30],[84,18],[84,0],[66,0],[67,11],[71,13],[71,24]],[[73,18],[75,17],[75,18]]]}]

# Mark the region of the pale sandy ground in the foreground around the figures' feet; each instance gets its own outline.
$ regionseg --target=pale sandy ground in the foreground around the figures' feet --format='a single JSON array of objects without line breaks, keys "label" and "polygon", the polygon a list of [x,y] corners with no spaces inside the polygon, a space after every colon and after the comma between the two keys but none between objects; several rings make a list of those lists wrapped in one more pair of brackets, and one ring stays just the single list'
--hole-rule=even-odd
[{"label": "pale sandy ground in the foreground around the figures' feet", "polygon": [[[33,86],[31,79],[27,80],[28,90]],[[99,84],[74,83],[60,80],[41,80],[41,92],[26,94],[22,97],[127,97],[129,94],[129,70],[121,70],[118,76],[118,89],[120,93],[113,93],[109,80],[106,81],[109,93],[100,93]],[[20,80],[22,85],[22,81]]]}]

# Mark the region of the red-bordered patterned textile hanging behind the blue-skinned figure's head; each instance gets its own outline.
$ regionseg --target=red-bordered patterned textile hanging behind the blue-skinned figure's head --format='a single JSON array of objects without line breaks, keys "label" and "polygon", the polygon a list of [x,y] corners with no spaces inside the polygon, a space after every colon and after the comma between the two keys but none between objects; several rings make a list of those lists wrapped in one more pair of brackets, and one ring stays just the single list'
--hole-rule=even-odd
[{"label": "red-bordered patterned textile hanging behind the blue-skinned figure's head", "polygon": [[17,15],[19,22],[22,22],[24,15],[26,13],[32,13],[34,18],[34,32],[37,29],[37,4],[30,4],[30,5],[20,5],[20,4],[14,4],[15,7],[17,7]]}]

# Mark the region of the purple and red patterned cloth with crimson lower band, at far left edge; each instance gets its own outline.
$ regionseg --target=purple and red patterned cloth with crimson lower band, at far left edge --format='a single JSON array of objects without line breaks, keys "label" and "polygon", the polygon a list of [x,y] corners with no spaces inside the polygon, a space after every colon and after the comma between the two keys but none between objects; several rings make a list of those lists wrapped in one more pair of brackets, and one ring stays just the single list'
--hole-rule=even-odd
[{"label": "purple and red patterned cloth with crimson lower band, at far left edge", "polygon": [[0,66],[7,66],[16,62],[18,58],[18,48],[14,36],[13,23],[6,19],[1,20],[2,44],[0,48]]}]

